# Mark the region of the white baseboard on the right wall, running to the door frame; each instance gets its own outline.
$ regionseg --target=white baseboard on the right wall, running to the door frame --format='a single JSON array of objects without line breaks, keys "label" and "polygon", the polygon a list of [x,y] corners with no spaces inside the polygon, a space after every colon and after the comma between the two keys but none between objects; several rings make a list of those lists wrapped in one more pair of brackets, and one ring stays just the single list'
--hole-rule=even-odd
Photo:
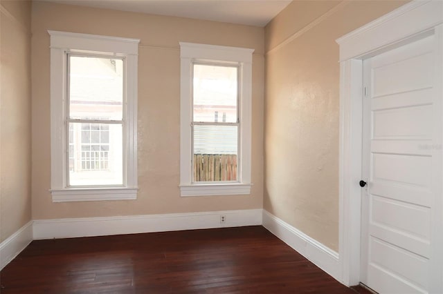
[{"label": "white baseboard on the right wall, running to the door frame", "polygon": [[338,282],[342,282],[338,253],[305,233],[298,231],[293,226],[282,221],[282,219],[271,215],[266,210],[263,210],[262,224],[284,243],[309,259],[310,262],[316,264],[316,266],[334,277]]}]

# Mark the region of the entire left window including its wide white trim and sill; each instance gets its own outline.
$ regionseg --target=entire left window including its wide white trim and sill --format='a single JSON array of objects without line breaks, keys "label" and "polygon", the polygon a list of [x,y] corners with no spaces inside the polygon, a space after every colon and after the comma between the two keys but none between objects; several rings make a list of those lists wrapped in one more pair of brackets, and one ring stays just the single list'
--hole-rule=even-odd
[{"label": "entire left window including its wide white trim and sill", "polygon": [[53,202],[136,199],[139,40],[48,32]]}]

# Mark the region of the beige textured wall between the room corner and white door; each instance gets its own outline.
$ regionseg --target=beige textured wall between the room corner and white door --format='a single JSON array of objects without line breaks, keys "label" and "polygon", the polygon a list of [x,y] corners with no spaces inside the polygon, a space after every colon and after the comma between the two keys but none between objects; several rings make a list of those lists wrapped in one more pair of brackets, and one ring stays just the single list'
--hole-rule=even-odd
[{"label": "beige textured wall between the room corner and white door", "polygon": [[265,28],[264,209],[335,251],[339,110],[335,39],[404,3],[293,1]]}]

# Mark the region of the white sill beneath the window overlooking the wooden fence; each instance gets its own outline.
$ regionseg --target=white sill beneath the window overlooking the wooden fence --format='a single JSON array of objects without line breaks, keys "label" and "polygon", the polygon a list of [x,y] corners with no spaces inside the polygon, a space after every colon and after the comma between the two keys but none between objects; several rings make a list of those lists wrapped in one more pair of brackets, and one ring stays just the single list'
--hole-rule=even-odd
[{"label": "white sill beneath the window overlooking the wooden fence", "polygon": [[252,184],[188,184],[180,185],[181,197],[249,195]]}]

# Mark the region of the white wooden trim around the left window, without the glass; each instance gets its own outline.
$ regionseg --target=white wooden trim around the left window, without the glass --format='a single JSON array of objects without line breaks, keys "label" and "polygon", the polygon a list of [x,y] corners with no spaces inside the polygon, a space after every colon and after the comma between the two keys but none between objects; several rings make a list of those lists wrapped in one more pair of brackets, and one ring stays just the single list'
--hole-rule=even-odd
[{"label": "white wooden trim around the left window, without the glass", "polygon": [[[51,195],[53,202],[136,199],[137,197],[137,64],[139,39],[57,32],[51,35]],[[66,53],[83,52],[126,59],[125,106],[127,135],[124,186],[67,187],[66,166]]]}]

